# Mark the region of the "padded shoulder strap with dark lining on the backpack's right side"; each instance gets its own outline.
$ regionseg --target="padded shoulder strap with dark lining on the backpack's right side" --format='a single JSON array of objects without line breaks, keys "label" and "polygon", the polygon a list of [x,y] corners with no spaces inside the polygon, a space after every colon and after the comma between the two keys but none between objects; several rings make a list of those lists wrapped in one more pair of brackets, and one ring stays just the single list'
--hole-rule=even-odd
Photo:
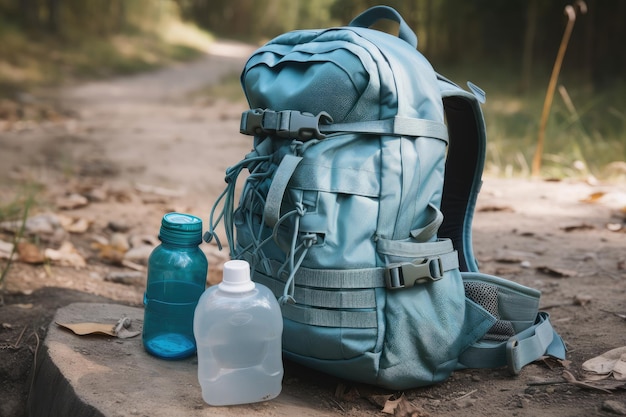
[{"label": "padded shoulder strap with dark lining on the backpack's right side", "polygon": [[450,141],[441,200],[444,221],[439,236],[452,240],[459,252],[461,271],[477,272],[472,219],[485,164],[485,121],[479,103],[484,102],[484,93],[473,84],[469,85],[474,94],[469,93],[439,74],[437,80]]}]

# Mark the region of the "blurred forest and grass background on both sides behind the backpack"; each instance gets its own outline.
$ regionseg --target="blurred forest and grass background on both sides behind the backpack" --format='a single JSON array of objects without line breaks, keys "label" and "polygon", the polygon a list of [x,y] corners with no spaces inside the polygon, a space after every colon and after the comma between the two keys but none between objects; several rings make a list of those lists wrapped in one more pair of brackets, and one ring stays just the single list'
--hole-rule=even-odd
[{"label": "blurred forest and grass background on both sides behind the backpack", "polygon": [[[216,37],[261,44],[289,30],[345,25],[387,4],[437,71],[486,90],[487,170],[524,176],[572,1],[0,0],[0,99],[194,59]],[[624,180],[626,1],[586,5],[560,72],[543,173]],[[239,88],[236,76],[224,84]]]}]

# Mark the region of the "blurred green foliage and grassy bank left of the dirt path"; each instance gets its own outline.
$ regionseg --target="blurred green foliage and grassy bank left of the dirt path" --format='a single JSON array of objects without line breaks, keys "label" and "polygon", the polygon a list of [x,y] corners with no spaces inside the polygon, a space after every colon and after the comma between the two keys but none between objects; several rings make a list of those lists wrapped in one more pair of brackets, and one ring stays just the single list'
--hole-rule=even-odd
[{"label": "blurred green foliage and grassy bank left of the dirt path", "polygon": [[210,35],[160,0],[0,0],[0,97],[199,56]]}]

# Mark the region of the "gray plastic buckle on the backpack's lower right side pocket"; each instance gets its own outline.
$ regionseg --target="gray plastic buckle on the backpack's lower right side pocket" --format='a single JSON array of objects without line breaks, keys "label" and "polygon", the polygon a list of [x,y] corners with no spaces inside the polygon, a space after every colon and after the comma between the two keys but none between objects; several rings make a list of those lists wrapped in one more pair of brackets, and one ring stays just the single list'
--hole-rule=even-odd
[{"label": "gray plastic buckle on the backpack's lower right side pocket", "polygon": [[439,257],[429,258],[420,263],[417,261],[397,263],[389,265],[385,270],[385,284],[391,290],[410,288],[439,281],[443,278],[443,273],[443,263]]}]

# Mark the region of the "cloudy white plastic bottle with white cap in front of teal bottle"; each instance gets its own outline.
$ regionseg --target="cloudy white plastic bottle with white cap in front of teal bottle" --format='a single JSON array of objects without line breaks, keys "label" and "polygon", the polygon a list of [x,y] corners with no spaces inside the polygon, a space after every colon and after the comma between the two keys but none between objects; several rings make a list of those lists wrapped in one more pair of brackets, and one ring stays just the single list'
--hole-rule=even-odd
[{"label": "cloudy white plastic bottle with white cap in front of teal bottle", "polygon": [[245,404],[280,394],[280,306],[267,287],[250,280],[246,261],[224,264],[222,282],[209,287],[198,301],[193,330],[206,403]]}]

